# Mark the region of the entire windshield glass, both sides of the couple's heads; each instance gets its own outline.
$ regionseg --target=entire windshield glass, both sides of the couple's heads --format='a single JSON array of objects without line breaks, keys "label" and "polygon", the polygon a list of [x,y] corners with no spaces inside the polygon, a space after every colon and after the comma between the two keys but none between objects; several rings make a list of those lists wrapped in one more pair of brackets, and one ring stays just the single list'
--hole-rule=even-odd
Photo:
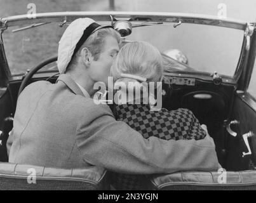
[{"label": "entire windshield glass, both sides of the couple's heads", "polygon": [[[45,24],[14,33],[11,30],[17,27],[11,27],[3,33],[11,74],[21,74],[46,58],[57,55],[58,41],[67,27],[58,24]],[[172,25],[150,25],[133,28],[126,39],[147,41],[178,61],[185,57],[180,62],[191,67],[187,70],[217,71],[232,76],[241,51],[243,31],[196,24],[182,24],[177,28]],[[57,70],[57,66],[50,65],[43,70]]]}]

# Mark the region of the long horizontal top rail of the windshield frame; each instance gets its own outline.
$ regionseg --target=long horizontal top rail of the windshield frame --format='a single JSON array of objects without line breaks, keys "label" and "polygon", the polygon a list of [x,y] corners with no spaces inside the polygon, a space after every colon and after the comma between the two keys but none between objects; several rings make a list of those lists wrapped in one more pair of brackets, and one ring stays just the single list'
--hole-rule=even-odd
[{"label": "long horizontal top rail of the windshield frame", "polygon": [[246,22],[234,20],[232,18],[218,18],[210,15],[196,15],[191,13],[160,13],[160,12],[118,12],[118,11],[79,11],[79,12],[53,12],[36,13],[36,18],[28,18],[27,15],[17,15],[0,18],[0,27],[5,23],[8,27],[15,25],[25,25],[32,23],[46,22],[72,22],[77,18],[93,18],[95,21],[111,22],[111,16],[114,21],[128,20],[130,22],[165,22],[165,23],[196,23],[201,25],[213,25],[227,27],[232,29],[245,30]]}]

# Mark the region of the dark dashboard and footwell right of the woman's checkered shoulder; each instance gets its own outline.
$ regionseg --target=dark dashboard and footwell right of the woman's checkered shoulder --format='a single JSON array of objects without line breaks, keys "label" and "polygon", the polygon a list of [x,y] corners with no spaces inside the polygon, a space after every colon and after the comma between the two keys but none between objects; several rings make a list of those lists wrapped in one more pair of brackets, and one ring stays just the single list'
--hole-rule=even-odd
[{"label": "dark dashboard and footwell right of the woman's checkered shoulder", "polygon": [[[223,167],[227,151],[224,121],[231,114],[235,89],[236,84],[215,85],[212,81],[195,79],[194,86],[172,84],[170,94],[163,99],[163,107],[168,110],[188,108],[198,118],[200,124],[206,124]],[[201,98],[197,95],[208,97]]]}]

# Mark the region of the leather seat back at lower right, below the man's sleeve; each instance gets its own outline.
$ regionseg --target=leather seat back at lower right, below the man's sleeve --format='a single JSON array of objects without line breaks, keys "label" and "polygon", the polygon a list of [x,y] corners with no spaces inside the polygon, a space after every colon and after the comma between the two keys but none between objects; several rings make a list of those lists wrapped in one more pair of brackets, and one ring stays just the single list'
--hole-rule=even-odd
[{"label": "leather seat back at lower right, below the man's sleeve", "polygon": [[154,190],[256,190],[256,170],[154,175],[151,183]]}]

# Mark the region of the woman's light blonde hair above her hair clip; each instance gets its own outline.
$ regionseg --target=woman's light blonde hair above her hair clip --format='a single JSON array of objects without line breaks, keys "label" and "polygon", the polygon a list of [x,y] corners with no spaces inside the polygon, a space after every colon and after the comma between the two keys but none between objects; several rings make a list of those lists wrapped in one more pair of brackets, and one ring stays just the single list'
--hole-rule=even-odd
[{"label": "woman's light blonde hair above her hair clip", "polygon": [[161,81],[163,58],[157,48],[143,41],[136,41],[123,46],[111,67],[114,81],[121,74],[145,77],[147,82]]}]

